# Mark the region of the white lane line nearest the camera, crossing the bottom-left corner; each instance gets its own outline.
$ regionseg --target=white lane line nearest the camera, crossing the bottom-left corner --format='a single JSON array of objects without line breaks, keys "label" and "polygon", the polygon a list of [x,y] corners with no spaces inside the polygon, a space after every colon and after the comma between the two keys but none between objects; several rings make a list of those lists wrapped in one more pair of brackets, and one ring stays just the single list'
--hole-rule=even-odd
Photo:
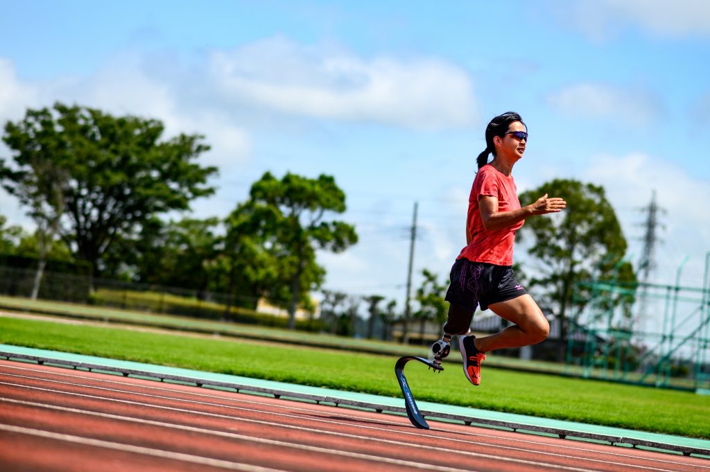
[{"label": "white lane line nearest the camera, crossing the bottom-left corner", "polygon": [[219,459],[211,459],[209,457],[202,456],[192,456],[191,454],[182,454],[180,452],[170,452],[163,451],[161,449],[150,449],[141,446],[131,446],[130,444],[120,444],[110,441],[102,441],[100,439],[91,439],[81,436],[72,436],[71,434],[60,434],[53,433],[50,431],[43,431],[41,429],[32,429],[19,426],[12,426],[11,424],[0,423],[0,431],[6,431],[18,434],[28,434],[35,437],[43,437],[47,439],[55,439],[58,441],[66,441],[74,444],[82,444],[83,446],[95,446],[103,447],[105,449],[113,449],[114,451],[130,452],[133,454],[143,454],[144,456],[153,456],[160,459],[173,459],[175,461],[196,463],[200,466],[212,466],[219,468],[226,468],[231,471],[244,471],[244,472],[285,472],[275,468],[266,468],[260,466],[251,466],[246,463],[221,461]]}]

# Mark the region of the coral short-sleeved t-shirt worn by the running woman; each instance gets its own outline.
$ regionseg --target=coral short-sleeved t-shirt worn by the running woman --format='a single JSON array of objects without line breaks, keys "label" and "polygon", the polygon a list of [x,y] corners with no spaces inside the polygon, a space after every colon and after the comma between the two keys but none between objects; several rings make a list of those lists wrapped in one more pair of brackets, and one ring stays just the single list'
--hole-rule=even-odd
[{"label": "coral short-sleeved t-shirt worn by the running woman", "polygon": [[461,250],[457,259],[466,258],[471,262],[513,265],[515,231],[523,226],[525,220],[496,231],[486,230],[479,211],[479,199],[484,196],[498,199],[498,212],[510,212],[520,208],[518,189],[515,187],[513,177],[504,175],[492,165],[484,165],[476,174],[469,197],[466,234],[471,242]]}]

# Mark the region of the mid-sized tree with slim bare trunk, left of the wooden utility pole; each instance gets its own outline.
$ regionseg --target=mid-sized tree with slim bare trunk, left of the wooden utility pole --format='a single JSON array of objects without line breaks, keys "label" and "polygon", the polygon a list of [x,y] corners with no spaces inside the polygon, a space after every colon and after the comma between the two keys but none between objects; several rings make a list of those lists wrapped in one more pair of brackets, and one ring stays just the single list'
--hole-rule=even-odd
[{"label": "mid-sized tree with slim bare trunk, left of the wooden utility pole", "polygon": [[258,214],[268,218],[268,230],[275,236],[270,251],[290,280],[288,327],[294,329],[302,295],[317,289],[325,274],[315,263],[316,249],[339,253],[357,242],[354,226],[325,219],[345,212],[345,194],[328,175],[309,179],[289,172],[277,180],[266,172],[251,186],[250,199],[261,208]]}]

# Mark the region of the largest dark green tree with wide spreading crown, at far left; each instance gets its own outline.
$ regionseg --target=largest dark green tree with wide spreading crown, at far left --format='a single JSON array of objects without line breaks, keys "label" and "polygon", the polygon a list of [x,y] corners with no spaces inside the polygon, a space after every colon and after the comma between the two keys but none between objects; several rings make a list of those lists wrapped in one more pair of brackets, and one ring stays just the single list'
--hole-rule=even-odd
[{"label": "largest dark green tree with wide spreading crown, at far left", "polygon": [[21,182],[45,163],[66,172],[60,234],[100,275],[102,254],[118,238],[155,214],[188,209],[192,199],[214,192],[206,182],[217,169],[192,162],[209,150],[203,136],[160,141],[163,131],[157,120],[76,105],[28,109],[5,126],[14,165],[0,159],[3,187],[18,194]]}]

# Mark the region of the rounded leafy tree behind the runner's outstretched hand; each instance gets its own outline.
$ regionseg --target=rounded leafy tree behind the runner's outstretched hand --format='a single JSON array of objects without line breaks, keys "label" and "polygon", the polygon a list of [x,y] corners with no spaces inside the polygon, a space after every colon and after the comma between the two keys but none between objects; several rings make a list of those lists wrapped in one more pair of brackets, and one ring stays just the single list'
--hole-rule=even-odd
[{"label": "rounded leafy tree behind the runner's outstretched hand", "polygon": [[[532,238],[528,253],[540,264],[535,265],[529,286],[540,287],[542,300],[554,307],[561,329],[560,339],[565,339],[568,309],[581,309],[585,303],[585,297],[573,297],[576,282],[589,280],[594,270],[599,270],[601,279],[613,277],[615,266],[626,253],[627,243],[603,187],[556,179],[520,194],[520,204],[535,202],[542,194],[563,197],[567,209],[526,220],[520,230],[520,240]],[[630,264],[622,263],[618,275],[633,278]],[[558,347],[561,361],[564,344]]]}]

